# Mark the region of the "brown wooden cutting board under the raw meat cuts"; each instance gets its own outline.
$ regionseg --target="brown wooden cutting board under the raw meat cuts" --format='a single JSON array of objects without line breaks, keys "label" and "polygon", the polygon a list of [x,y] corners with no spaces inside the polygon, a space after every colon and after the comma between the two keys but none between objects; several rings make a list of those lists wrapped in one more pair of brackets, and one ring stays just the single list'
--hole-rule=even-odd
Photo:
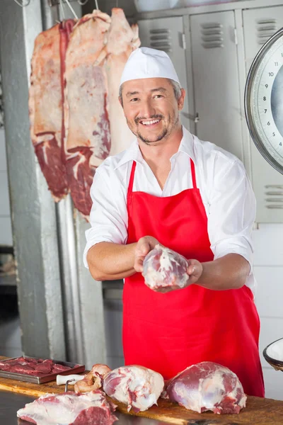
[{"label": "brown wooden cutting board under the raw meat cuts", "polygon": [[[0,356],[0,360],[1,358],[3,357]],[[69,389],[73,390],[73,388],[70,385]],[[64,392],[64,385],[57,386],[55,381],[38,385],[0,378],[0,390],[40,397],[40,395],[45,395],[47,392],[60,394]],[[117,403],[115,400],[112,401],[117,404],[117,410],[128,414],[125,404]],[[130,412],[129,414],[134,413]],[[135,415],[176,425],[283,425],[283,402],[260,397],[248,397],[246,409],[243,409],[240,414],[216,415],[210,412],[198,414],[180,407],[178,404],[159,399],[158,406],[153,406],[146,412],[140,412]]]}]

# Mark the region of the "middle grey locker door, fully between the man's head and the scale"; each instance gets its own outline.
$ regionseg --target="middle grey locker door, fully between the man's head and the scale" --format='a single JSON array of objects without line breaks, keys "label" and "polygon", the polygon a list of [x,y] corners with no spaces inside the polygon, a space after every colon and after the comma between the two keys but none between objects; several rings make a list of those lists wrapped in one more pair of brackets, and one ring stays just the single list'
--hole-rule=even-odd
[{"label": "middle grey locker door, fully between the man's head and the scale", "polygon": [[233,11],[190,16],[197,136],[243,159]]}]

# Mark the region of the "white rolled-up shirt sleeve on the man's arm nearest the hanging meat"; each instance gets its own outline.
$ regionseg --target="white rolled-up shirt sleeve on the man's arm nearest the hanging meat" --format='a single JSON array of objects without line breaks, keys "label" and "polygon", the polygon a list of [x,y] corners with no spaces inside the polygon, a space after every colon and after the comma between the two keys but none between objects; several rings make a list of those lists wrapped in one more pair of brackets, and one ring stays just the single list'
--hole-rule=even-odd
[{"label": "white rolled-up shirt sleeve on the man's arm nearest the hanging meat", "polygon": [[91,186],[91,199],[91,228],[86,230],[86,247],[83,251],[83,263],[86,268],[86,254],[91,246],[99,242],[127,242],[126,196],[117,176],[111,177],[105,169],[98,169]]}]

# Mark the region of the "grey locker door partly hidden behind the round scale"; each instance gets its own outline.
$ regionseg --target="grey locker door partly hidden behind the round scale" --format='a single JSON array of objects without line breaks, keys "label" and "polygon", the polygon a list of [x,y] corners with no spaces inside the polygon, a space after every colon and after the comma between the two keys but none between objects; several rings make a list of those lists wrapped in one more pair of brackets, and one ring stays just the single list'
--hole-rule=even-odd
[{"label": "grey locker door partly hidden behind the round scale", "polygon": [[[262,45],[283,26],[283,6],[243,10],[246,74]],[[250,140],[257,222],[283,222],[283,175],[272,168]]]}]

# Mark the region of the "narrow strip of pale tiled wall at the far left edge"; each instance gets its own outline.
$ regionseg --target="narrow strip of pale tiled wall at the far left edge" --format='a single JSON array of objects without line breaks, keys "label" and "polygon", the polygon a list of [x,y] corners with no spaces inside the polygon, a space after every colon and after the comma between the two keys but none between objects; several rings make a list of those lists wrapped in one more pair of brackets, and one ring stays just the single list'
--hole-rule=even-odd
[{"label": "narrow strip of pale tiled wall at the far left edge", "polygon": [[0,129],[0,245],[13,244],[4,130]]}]

